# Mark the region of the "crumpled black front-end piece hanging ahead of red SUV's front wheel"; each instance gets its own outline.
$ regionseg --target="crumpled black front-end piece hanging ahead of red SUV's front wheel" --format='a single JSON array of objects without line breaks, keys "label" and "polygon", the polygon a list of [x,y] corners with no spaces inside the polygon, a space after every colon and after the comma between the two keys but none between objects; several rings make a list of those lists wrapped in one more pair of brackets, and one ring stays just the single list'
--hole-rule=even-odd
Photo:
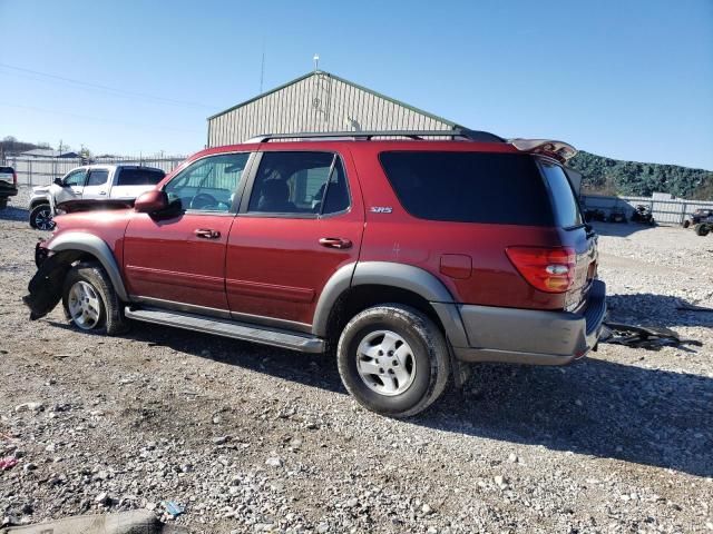
[{"label": "crumpled black front-end piece hanging ahead of red SUV's front wheel", "polygon": [[62,298],[62,286],[72,263],[79,259],[81,253],[67,250],[51,253],[47,241],[39,241],[35,247],[35,264],[37,273],[28,285],[29,295],[22,301],[30,308],[30,320],[37,320],[49,314]]}]

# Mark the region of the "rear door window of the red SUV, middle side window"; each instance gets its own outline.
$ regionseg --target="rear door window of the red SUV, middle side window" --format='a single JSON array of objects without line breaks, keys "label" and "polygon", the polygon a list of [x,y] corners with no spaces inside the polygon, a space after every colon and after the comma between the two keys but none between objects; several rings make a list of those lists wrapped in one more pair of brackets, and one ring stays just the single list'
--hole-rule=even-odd
[{"label": "rear door window of the red SUV, middle side window", "polygon": [[349,209],[346,174],[332,152],[264,152],[247,210],[323,216]]}]

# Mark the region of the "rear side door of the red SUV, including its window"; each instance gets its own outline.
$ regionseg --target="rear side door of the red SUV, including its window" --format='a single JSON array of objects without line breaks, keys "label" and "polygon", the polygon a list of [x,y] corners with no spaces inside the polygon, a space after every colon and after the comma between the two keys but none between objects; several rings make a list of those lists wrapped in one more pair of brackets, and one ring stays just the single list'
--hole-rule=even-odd
[{"label": "rear side door of the red SUV, including its window", "polygon": [[261,155],[254,175],[228,238],[231,312],[307,330],[329,278],[359,257],[355,172],[334,152],[275,149]]}]

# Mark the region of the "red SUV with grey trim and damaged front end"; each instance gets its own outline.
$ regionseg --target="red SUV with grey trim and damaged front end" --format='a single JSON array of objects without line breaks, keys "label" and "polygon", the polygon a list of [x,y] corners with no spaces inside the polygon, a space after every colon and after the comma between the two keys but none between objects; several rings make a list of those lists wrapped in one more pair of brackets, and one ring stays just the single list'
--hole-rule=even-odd
[{"label": "red SUV with grey trim and damaged front end", "polygon": [[605,287],[561,167],[574,154],[471,130],[207,149],[131,209],[57,217],[26,303],[35,319],[61,299],[108,335],[134,319],[335,354],[362,405],[410,416],[465,363],[596,346]]}]

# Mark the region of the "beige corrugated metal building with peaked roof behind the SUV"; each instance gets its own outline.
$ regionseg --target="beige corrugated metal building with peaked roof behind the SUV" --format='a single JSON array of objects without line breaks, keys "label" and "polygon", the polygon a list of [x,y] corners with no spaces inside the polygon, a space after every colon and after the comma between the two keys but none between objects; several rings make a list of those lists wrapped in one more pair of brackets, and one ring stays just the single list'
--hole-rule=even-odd
[{"label": "beige corrugated metal building with peaked roof behind the SUV", "polygon": [[453,128],[462,127],[316,70],[208,117],[208,147],[238,144],[260,134]]}]

